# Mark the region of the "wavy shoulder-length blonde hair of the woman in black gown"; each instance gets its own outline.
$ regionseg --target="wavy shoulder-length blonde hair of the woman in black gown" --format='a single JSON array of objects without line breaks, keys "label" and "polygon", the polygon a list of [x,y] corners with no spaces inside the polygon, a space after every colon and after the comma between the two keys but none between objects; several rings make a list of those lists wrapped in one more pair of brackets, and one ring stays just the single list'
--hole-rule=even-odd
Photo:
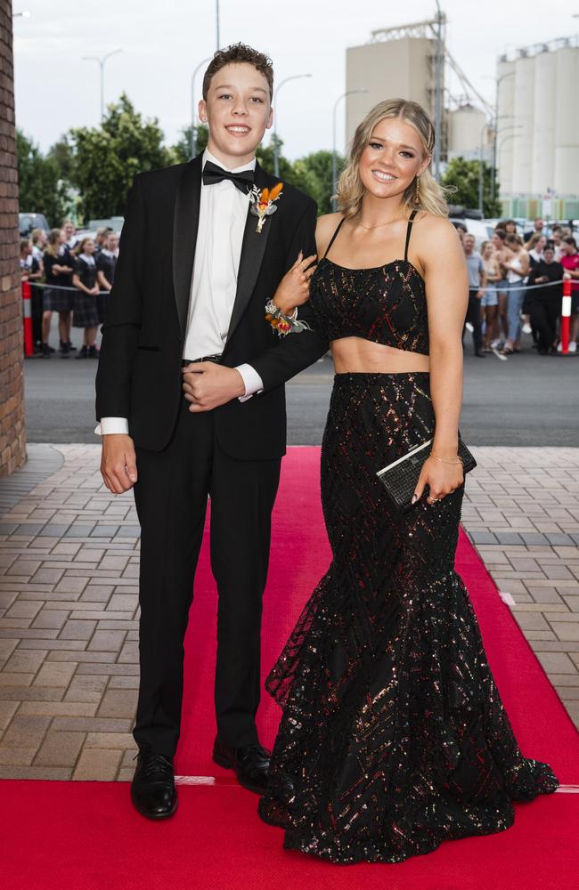
[{"label": "wavy shoulder-length blonde hair of the woman in black gown", "polygon": [[[354,139],[348,151],[346,167],[338,180],[338,209],[347,219],[352,219],[360,212],[364,187],[360,179],[360,158],[371,140],[374,128],[385,117],[399,117],[404,123],[414,127],[420,136],[424,155],[432,155],[435,134],[432,121],[417,102],[405,99],[387,99],[375,105],[356,128]],[[430,162],[419,177],[414,177],[404,191],[404,210],[409,214],[412,210],[422,210],[427,214],[448,216],[448,205],[445,192],[430,172]],[[418,188],[419,200],[414,202]]]}]

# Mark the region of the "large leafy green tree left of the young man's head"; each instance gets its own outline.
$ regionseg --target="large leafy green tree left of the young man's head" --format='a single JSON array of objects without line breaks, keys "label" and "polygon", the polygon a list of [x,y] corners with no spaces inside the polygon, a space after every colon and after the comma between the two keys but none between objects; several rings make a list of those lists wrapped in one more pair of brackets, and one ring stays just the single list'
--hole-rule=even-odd
[{"label": "large leafy green tree left of the young man's head", "polygon": [[172,162],[163,138],[157,118],[143,120],[125,93],[109,106],[100,127],[70,130],[71,180],[86,221],[123,214],[135,175]]}]

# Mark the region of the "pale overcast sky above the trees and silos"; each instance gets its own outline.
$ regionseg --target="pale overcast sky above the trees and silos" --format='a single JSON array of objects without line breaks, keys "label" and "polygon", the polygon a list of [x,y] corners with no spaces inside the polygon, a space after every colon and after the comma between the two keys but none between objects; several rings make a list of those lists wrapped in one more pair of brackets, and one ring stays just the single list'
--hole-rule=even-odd
[{"label": "pale overcast sky above the trees and silos", "polygon": [[[572,16],[579,0],[550,0],[536,10],[528,0],[441,0],[441,6],[450,52],[491,102],[498,55],[579,30]],[[216,48],[213,0],[13,0],[13,7],[31,12],[14,20],[16,122],[43,149],[71,126],[98,124],[99,67],[82,56],[117,48],[122,53],[106,63],[105,103],[125,91],[143,115],[159,118],[169,144],[190,122],[192,71]],[[347,47],[366,43],[373,29],[435,12],[434,0],[221,0],[220,42],[242,40],[271,55],[278,83],[312,74],[280,93],[278,132],[293,159],[331,148],[332,107],[345,90]],[[198,77],[198,98],[200,82]],[[343,104],[340,116],[343,134]],[[343,150],[343,136],[340,142]]]}]

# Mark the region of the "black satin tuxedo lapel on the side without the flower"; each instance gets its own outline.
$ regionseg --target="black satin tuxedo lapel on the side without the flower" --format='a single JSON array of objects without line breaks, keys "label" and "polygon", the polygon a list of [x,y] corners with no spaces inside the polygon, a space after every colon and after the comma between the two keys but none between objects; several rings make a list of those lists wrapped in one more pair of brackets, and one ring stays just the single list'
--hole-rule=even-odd
[{"label": "black satin tuxedo lapel on the side without the flower", "polygon": [[193,158],[183,168],[177,186],[173,221],[173,289],[179,316],[179,327],[184,337],[187,327],[187,310],[191,295],[193,261],[199,229],[201,198],[202,155]]}]

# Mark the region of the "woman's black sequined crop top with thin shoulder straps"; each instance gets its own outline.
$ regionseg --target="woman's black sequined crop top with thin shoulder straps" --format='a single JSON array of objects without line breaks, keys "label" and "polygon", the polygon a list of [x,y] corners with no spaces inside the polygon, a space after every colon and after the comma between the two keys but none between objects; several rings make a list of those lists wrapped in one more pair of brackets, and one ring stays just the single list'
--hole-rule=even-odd
[{"label": "woman's black sequined crop top with thin shoulder straps", "polygon": [[346,269],[328,259],[344,220],[312,276],[310,305],[318,330],[329,341],[357,336],[372,343],[428,355],[428,315],[424,279],[408,261],[412,211],[404,260],[375,269]]}]

